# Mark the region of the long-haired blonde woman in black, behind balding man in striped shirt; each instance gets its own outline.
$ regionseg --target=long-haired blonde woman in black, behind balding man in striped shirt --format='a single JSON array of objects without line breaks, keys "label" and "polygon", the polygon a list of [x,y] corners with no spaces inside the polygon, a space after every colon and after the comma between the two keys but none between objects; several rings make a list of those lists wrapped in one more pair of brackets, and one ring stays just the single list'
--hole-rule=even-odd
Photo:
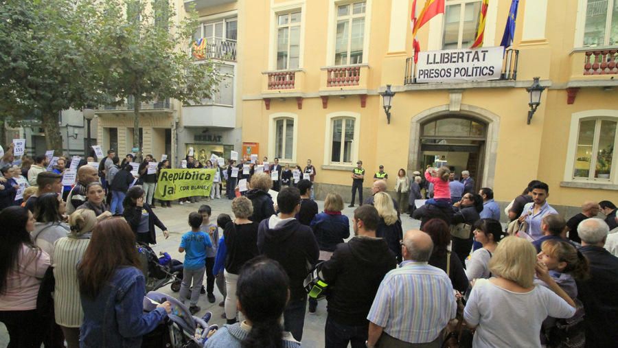
[{"label": "long-haired blonde woman in black, behind balding man in striped shirt", "polygon": [[374,195],[374,207],[376,207],[380,216],[376,237],[384,238],[389,249],[397,256],[397,262],[401,262],[400,242],[403,239],[403,229],[391,196],[386,192],[378,192]]}]

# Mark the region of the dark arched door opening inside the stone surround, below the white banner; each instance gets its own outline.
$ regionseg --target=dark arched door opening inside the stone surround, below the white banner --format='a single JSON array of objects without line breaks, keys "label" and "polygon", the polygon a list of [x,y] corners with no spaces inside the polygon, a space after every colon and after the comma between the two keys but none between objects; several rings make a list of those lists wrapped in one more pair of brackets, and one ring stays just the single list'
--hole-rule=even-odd
[{"label": "dark arched door opening inside the stone surround, below the white banner", "polygon": [[449,113],[427,119],[420,127],[419,165],[446,165],[456,177],[468,170],[475,190],[483,183],[487,124],[466,115]]}]

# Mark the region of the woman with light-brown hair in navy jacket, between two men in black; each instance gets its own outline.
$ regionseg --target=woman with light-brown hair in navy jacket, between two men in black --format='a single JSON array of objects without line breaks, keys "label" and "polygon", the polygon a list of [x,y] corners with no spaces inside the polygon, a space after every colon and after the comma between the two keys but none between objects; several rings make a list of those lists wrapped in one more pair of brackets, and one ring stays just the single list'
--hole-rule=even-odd
[{"label": "woman with light-brown hair in navy jacket, between two men in black", "polygon": [[[314,216],[309,226],[320,247],[318,262],[328,261],[337,244],[350,237],[350,221],[343,215],[343,198],[336,192],[330,192],[324,200],[324,211]],[[309,312],[314,313],[317,300],[309,297]]]}]

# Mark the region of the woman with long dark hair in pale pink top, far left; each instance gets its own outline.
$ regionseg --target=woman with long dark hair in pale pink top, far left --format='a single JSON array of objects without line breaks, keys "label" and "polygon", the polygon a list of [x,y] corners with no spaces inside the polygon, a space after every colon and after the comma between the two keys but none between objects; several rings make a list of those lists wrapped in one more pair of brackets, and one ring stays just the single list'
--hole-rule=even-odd
[{"label": "woman with long dark hair in pale pink top, far left", "polygon": [[47,319],[36,311],[41,279],[49,255],[30,240],[32,213],[23,207],[0,211],[0,322],[6,325],[8,347],[41,347]]}]

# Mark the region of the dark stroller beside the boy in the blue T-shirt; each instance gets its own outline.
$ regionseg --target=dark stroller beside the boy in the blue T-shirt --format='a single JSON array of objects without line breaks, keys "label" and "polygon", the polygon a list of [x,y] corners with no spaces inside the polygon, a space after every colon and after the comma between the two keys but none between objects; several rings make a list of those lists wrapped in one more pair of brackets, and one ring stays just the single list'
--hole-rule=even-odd
[{"label": "dark stroller beside the boy in the blue T-shirt", "polygon": [[[163,253],[163,257],[159,259],[155,251],[148,244],[137,243],[137,252],[141,261],[141,272],[146,277],[146,291],[154,291],[163,286],[179,281],[179,274],[182,272],[182,263],[172,259],[168,253]],[[180,272],[178,266],[172,264],[180,264]],[[182,279],[182,275],[180,275]]]}]

